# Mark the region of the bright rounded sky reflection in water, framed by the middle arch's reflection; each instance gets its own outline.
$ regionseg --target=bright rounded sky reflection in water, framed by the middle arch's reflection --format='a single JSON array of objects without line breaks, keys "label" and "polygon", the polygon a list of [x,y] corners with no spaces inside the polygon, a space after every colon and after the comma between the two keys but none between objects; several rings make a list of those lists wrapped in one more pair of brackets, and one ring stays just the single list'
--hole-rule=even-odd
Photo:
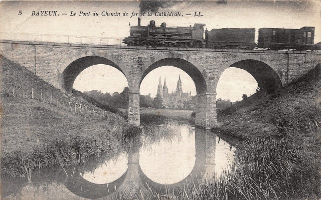
[{"label": "bright rounded sky reflection in water, framed by the middle arch's reflection", "polygon": [[173,184],[186,178],[195,165],[195,134],[189,126],[178,126],[176,136],[143,146],[139,151],[139,166],[150,180]]}]

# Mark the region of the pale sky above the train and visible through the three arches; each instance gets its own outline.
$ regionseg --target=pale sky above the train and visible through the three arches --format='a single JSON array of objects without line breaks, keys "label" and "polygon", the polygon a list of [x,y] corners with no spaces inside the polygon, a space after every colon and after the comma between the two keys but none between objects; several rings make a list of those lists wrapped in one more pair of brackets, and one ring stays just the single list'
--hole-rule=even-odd
[{"label": "pale sky above the train and visible through the three arches", "polygon": [[[0,2],[0,38],[3,33],[29,33],[50,35],[73,35],[123,38],[129,35],[129,24],[137,25],[140,1],[2,1]],[[141,25],[146,26],[150,20],[156,26],[166,22],[167,26],[190,26],[195,23],[206,24],[206,28],[291,28],[304,26],[315,27],[314,43],[321,41],[321,3],[315,1],[177,1],[166,2],[158,12],[180,12],[182,17],[141,17]],[[57,16],[33,16],[33,12],[57,11]],[[79,13],[90,16],[79,16]],[[98,16],[92,16],[96,12]],[[103,12],[121,13],[120,17],[102,16]],[[122,16],[126,12],[128,16]],[[201,12],[202,17],[194,17]],[[76,16],[71,16],[76,13]],[[20,15],[21,14],[21,15]],[[67,15],[63,15],[67,14]],[[186,14],[193,14],[186,16]],[[258,34],[256,34],[257,37]],[[257,39],[256,39],[257,40]],[[159,76],[167,80],[169,91],[176,90],[178,76],[181,74],[184,92],[191,91],[195,95],[195,85],[190,77],[178,68],[161,68],[151,71],[140,86],[140,93],[154,96]],[[163,68],[163,69],[165,69]],[[168,72],[168,73],[165,73]],[[121,92],[127,85],[123,75],[114,72],[111,67],[98,69],[89,67],[77,77],[74,88],[80,91],[101,90],[103,92]],[[184,77],[184,79],[183,79]],[[93,82],[95,80],[95,82]],[[91,88],[89,86],[92,86]],[[241,86],[241,88],[240,88]],[[217,98],[240,100],[242,93],[250,95],[257,83],[247,72],[239,69],[228,69],[220,77]],[[241,94],[240,94],[241,93]]]}]

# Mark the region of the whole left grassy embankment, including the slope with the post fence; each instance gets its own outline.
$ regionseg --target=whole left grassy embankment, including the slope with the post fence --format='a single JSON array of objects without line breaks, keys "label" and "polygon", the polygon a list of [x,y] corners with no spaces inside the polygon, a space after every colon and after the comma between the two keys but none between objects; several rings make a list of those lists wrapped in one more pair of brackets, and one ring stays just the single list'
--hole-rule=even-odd
[{"label": "whole left grassy embankment, including the slope with the post fence", "polygon": [[1,67],[2,176],[82,164],[114,153],[133,132],[121,116],[61,92],[5,57]]}]

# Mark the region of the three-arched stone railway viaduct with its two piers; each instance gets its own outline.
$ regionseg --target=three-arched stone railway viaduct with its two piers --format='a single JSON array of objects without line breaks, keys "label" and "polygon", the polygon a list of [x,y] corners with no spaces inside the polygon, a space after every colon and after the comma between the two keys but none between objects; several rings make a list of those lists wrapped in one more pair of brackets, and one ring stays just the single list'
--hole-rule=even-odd
[{"label": "three-arched stone railway viaduct with its two piers", "polygon": [[[216,124],[216,86],[225,69],[249,72],[260,88],[273,92],[321,64],[321,52],[223,50],[0,41],[0,52],[49,84],[72,93],[81,71],[96,64],[117,68],[129,86],[128,122],[139,124],[139,87],[153,69],[174,66],[193,79],[197,91],[196,125]],[[114,83],[113,83],[114,84]]]}]

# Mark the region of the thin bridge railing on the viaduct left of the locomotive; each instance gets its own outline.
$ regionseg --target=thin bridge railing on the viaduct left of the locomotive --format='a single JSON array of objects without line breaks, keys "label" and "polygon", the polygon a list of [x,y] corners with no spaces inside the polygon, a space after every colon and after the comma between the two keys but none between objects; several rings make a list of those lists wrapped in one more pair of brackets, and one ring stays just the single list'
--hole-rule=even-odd
[{"label": "thin bridge railing on the viaduct left of the locomotive", "polygon": [[47,34],[25,34],[25,33],[0,33],[1,40],[31,41],[31,42],[54,42],[89,45],[121,45],[123,38],[69,36],[69,35],[47,35]]}]

